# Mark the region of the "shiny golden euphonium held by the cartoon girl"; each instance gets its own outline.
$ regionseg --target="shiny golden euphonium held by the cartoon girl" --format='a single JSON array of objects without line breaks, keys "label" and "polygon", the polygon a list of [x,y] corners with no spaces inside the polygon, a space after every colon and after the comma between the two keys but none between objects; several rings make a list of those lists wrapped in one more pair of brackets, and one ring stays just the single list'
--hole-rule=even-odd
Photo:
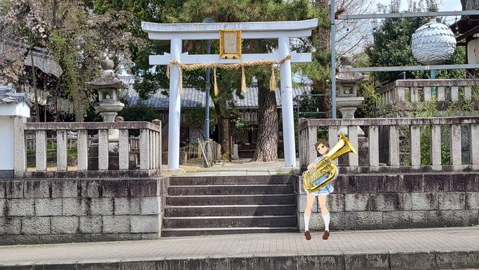
[{"label": "shiny golden euphonium held by the cartoon girl", "polygon": [[[351,142],[347,140],[347,137],[340,133],[340,140],[339,142],[337,142],[335,147],[332,147],[328,154],[325,154],[323,158],[321,158],[316,164],[314,164],[313,168],[310,168],[308,171],[305,171],[303,173],[304,189],[307,192],[315,192],[316,190],[324,188],[332,180],[335,180],[337,176],[337,166],[332,161],[342,156],[343,154],[347,154],[350,152],[357,154]],[[328,178],[321,181],[321,183],[315,184],[315,182],[319,178],[322,178],[326,174],[329,175]]]}]

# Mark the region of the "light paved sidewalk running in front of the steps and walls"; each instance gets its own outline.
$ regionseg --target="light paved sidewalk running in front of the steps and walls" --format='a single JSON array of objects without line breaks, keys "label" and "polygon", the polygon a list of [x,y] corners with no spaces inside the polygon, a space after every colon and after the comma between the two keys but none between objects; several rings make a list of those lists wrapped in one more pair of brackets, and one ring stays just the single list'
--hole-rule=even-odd
[{"label": "light paved sidewalk running in front of the steps and walls", "polygon": [[[435,262],[437,256],[443,254],[441,262],[452,266],[451,268],[454,268],[454,261],[450,260],[459,259],[461,254],[465,254],[462,261],[475,260],[473,262],[479,267],[478,227],[333,231],[329,240],[322,240],[321,235],[322,233],[313,233],[313,238],[309,241],[302,233],[261,233],[115,243],[3,246],[0,247],[0,266],[146,262],[165,259],[297,258],[301,255],[335,254],[343,257],[354,254],[392,256],[393,253],[406,252],[418,253],[422,257],[424,254],[434,254]],[[450,256],[444,257],[444,254]],[[461,264],[464,264],[462,261]]]}]

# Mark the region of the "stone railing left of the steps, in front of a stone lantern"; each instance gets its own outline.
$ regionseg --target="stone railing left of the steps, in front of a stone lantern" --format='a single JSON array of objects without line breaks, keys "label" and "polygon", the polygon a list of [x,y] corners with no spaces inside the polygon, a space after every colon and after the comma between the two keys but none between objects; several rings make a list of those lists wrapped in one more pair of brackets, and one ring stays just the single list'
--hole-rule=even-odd
[{"label": "stone railing left of the steps, in front of a stone lantern", "polygon": [[[44,177],[148,177],[161,173],[161,121],[118,123],[15,123],[15,178]],[[88,132],[97,130],[97,159],[92,165]],[[132,152],[129,130],[139,130],[139,151]],[[68,132],[76,133],[77,169],[68,169]],[[35,135],[35,168],[27,169],[26,134]],[[47,133],[56,133],[56,166],[47,169]],[[118,149],[108,149],[108,133],[118,133]],[[111,146],[110,146],[111,148]],[[116,156],[116,167],[112,159]],[[139,161],[132,166],[130,159]]]}]

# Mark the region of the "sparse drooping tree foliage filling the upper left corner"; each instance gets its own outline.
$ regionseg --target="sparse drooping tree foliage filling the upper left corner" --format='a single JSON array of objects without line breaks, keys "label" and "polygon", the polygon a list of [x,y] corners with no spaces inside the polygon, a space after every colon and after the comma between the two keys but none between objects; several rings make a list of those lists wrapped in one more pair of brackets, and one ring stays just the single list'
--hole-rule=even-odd
[{"label": "sparse drooping tree foliage filling the upper left corner", "polygon": [[[138,42],[126,31],[131,13],[98,14],[92,12],[93,4],[94,1],[0,0],[0,6],[8,8],[3,12],[10,14],[0,17],[0,38],[27,45],[28,50],[45,49],[63,71],[59,78],[36,72],[35,77],[18,76],[11,82],[36,86],[28,80],[38,77],[36,84],[49,91],[51,97],[63,97],[73,103],[75,121],[82,121],[96,94],[87,89],[85,82],[99,77],[100,61],[108,55],[117,68],[127,68],[127,45]],[[27,51],[21,54],[25,57]],[[23,65],[24,59],[20,60]],[[0,63],[0,77],[3,66]],[[21,71],[23,66],[16,69]]]}]

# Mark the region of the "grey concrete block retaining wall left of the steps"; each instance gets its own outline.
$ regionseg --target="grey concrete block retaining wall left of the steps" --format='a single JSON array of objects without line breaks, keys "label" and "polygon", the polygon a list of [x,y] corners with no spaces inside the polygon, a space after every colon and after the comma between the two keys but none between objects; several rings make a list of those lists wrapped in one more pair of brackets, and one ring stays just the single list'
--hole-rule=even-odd
[{"label": "grey concrete block retaining wall left of the steps", "polygon": [[168,178],[0,180],[0,245],[156,239]]}]

